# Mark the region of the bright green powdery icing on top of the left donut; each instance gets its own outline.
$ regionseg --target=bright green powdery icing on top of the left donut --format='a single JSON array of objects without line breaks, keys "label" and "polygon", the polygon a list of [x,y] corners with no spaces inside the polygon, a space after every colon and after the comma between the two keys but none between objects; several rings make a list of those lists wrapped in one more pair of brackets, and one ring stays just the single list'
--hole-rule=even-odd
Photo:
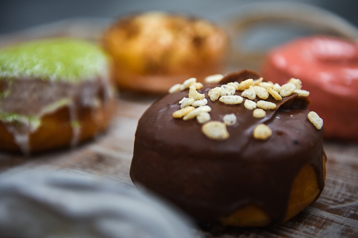
[{"label": "bright green powdery icing on top of the left donut", "polygon": [[107,76],[107,66],[104,51],[84,40],[53,38],[0,49],[0,80],[35,77],[76,83]]}]

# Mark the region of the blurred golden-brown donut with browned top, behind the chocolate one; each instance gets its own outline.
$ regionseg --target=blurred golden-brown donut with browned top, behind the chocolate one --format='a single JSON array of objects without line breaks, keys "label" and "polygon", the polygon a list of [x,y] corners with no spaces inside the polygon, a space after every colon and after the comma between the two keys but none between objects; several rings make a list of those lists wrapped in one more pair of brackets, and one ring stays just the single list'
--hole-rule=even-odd
[{"label": "blurred golden-brown donut with browned top, behind the chocolate one", "polygon": [[164,94],[185,77],[221,72],[228,38],[201,19],[146,12],[112,24],[102,44],[120,89]]}]

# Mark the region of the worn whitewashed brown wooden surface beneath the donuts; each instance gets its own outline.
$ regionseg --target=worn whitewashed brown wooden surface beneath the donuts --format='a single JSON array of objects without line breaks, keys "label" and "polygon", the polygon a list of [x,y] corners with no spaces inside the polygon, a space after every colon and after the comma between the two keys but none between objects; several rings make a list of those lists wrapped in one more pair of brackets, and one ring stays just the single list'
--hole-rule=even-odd
[{"label": "worn whitewashed brown wooden surface beneath the donuts", "polygon": [[[70,150],[30,157],[0,153],[0,172],[33,167],[78,169],[133,186],[129,168],[137,121],[155,99],[122,93],[106,133]],[[215,234],[197,229],[197,237],[358,237],[358,144],[326,141],[324,148],[328,156],[325,189],[289,222],[266,228],[228,228]]]}]

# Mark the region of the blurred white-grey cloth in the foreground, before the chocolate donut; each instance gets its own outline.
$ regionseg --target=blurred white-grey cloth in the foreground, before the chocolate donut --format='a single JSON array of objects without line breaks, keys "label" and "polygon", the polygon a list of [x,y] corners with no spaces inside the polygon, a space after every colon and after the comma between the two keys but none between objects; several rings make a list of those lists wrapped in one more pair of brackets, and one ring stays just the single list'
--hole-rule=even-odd
[{"label": "blurred white-grey cloth in the foreground, before the chocolate donut", "polygon": [[190,238],[192,223],[134,187],[76,171],[0,174],[0,237]]}]

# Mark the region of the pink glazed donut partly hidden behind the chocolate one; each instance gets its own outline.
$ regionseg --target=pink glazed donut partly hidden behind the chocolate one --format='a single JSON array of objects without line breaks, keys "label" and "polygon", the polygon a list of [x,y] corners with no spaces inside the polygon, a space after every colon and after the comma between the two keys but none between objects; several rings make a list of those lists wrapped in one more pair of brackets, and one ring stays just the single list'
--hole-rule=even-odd
[{"label": "pink glazed donut partly hidden behind the chocolate one", "polygon": [[294,77],[311,92],[308,108],[324,121],[327,139],[358,140],[358,44],[313,36],[271,50],[262,68],[265,80]]}]

